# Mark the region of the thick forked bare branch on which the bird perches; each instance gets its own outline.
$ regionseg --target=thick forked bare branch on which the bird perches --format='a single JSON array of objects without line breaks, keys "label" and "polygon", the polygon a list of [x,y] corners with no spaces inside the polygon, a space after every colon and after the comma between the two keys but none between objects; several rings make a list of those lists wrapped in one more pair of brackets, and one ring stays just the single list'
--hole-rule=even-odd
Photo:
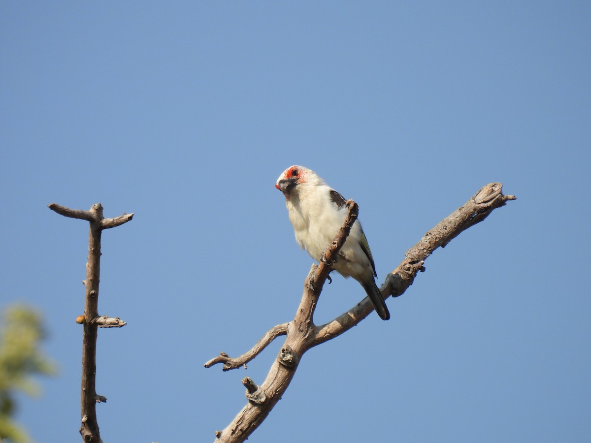
[{"label": "thick forked bare branch on which the bird perches", "polygon": [[[386,277],[381,287],[382,297],[399,297],[404,294],[408,286],[413,284],[417,273],[425,271],[424,262],[437,247],[446,246],[460,232],[482,222],[494,209],[504,206],[509,200],[515,200],[515,196],[504,196],[501,183],[491,183],[480,189],[464,206],[441,220],[407,251],[402,263]],[[303,354],[311,347],[348,331],[374,309],[369,298],[365,297],[335,320],[320,326],[314,325],[314,310],[324,282],[332,269],[333,260],[345,243],[350,228],[358,216],[359,208],[355,202],[349,200],[347,206],[348,215],[335,240],[324,253],[320,264],[314,264],[310,269],[294,320],[271,328],[250,351],[240,357],[233,359],[228,354],[221,353],[205,364],[205,367],[211,367],[216,363],[223,363],[225,371],[246,366],[246,363],[254,359],[272,340],[280,335],[286,335],[285,343],[262,385],[257,386],[249,377],[243,380],[248,403],[225,429],[215,432],[216,443],[245,441],[281,399],[296,373]]]}]

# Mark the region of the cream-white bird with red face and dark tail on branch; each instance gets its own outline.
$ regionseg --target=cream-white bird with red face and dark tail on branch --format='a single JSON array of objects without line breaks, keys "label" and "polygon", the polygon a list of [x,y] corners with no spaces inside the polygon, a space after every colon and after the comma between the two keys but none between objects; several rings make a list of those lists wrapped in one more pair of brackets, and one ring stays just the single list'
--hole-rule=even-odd
[{"label": "cream-white bird with red face and dark tail on branch", "polygon": [[[316,172],[299,165],[283,171],[275,187],[285,196],[298,245],[320,262],[345,221],[348,211],[345,198]],[[353,224],[333,269],[345,278],[353,277],[358,281],[379,317],[382,320],[390,318],[388,307],[375,284],[374,258],[359,220]]]}]

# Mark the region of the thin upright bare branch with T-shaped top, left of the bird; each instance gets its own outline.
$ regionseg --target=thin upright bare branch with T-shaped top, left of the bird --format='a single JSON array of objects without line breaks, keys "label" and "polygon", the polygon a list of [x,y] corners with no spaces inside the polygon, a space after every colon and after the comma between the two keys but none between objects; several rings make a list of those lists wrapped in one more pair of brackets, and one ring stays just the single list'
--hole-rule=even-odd
[{"label": "thin upright bare branch with T-shaped top, left of the bird", "polygon": [[99,316],[99,277],[100,277],[100,234],[103,229],[119,226],[129,222],[134,214],[123,214],[114,219],[103,217],[103,207],[100,203],[93,204],[89,211],[69,209],[57,203],[48,205],[64,217],[82,219],[90,222],[88,239],[88,262],[86,263],[86,297],[84,315],[76,318],[76,323],[83,325],[82,338],[82,389],[80,394],[80,416],[82,426],[80,435],[82,441],[102,443],[99,425],[96,421],[96,403],[106,402],[106,397],[98,395],[95,390],[96,382],[96,337],[99,327],[112,328],[125,326],[119,317]]}]

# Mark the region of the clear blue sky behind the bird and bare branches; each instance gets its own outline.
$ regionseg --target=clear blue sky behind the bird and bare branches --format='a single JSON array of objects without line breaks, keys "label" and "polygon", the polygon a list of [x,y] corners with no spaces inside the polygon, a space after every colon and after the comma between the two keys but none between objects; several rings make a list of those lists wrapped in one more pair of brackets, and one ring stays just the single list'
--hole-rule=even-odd
[{"label": "clear blue sky behind the bird and bare branches", "polygon": [[[589,441],[589,2],[2,2],[0,307],[43,312],[59,374],[22,398],[79,439],[87,223],[105,216],[105,441],[213,441],[280,349],[312,260],[286,167],[360,205],[378,282],[485,184],[517,201],[437,250],[392,320],[306,354],[249,441]],[[336,276],[317,323],[363,291]],[[291,429],[292,432],[285,432]]]}]

